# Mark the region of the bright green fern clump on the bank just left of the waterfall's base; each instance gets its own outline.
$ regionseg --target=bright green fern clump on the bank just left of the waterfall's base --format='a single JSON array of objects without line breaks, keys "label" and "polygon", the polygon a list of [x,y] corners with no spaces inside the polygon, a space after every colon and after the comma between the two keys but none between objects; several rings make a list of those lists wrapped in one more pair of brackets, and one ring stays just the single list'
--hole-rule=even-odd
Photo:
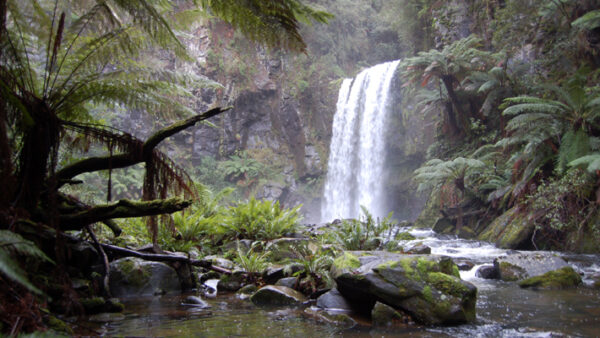
[{"label": "bright green fern clump on the bank just left of the waterfall's base", "polygon": [[230,207],[221,218],[221,231],[227,239],[272,240],[294,232],[300,207],[282,209],[279,202],[257,201]]}]

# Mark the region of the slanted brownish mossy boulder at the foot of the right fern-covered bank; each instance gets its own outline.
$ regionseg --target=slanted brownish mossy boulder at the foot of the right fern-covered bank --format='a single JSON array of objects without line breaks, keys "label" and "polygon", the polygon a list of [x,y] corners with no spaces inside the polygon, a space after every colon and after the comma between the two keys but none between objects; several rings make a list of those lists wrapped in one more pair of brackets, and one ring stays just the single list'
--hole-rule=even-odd
[{"label": "slanted brownish mossy boulder at the foot of the right fern-covered bank", "polygon": [[531,245],[534,229],[529,214],[514,207],[490,223],[477,239],[495,243],[503,249],[524,249]]}]

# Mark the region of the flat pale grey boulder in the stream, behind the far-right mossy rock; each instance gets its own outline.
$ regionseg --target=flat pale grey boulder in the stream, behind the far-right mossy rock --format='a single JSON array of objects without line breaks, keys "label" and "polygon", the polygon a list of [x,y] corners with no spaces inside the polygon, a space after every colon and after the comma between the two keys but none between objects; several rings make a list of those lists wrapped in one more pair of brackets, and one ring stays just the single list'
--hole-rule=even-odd
[{"label": "flat pale grey boulder in the stream, behind the far-right mossy rock", "polygon": [[541,252],[515,253],[494,260],[494,267],[503,281],[536,277],[567,266],[561,257]]}]

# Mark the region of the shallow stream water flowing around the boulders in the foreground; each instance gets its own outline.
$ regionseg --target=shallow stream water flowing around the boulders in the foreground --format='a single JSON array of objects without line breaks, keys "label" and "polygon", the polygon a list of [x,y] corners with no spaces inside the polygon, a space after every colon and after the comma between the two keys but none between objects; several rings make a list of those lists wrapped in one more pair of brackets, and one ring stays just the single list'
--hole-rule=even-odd
[{"label": "shallow stream water flowing around the boulders in the foreground", "polygon": [[[92,316],[81,325],[107,336],[179,337],[595,337],[600,335],[600,291],[588,285],[561,291],[521,289],[515,283],[485,280],[475,276],[483,264],[492,264],[506,250],[478,241],[438,236],[430,230],[410,230],[432,248],[433,254],[451,256],[455,261],[475,264],[461,277],[478,288],[477,319],[455,327],[400,327],[372,329],[367,321],[344,329],[318,323],[303,309],[260,308],[232,294],[208,299],[208,309],[182,305],[186,295],[125,300],[122,314]],[[407,245],[413,244],[410,242]],[[583,274],[600,271],[600,256],[563,255]]]}]

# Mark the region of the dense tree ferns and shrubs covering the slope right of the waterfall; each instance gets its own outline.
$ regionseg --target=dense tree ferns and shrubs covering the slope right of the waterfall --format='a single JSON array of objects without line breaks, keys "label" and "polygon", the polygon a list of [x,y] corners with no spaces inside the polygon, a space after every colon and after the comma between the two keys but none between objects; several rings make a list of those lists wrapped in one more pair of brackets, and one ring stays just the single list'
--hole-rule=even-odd
[{"label": "dense tree ferns and shrubs covering the slope right of the waterfall", "polygon": [[535,227],[514,245],[596,251],[599,13],[594,1],[486,2],[472,35],[403,61],[413,113],[439,114],[416,180],[457,231],[516,208]]}]

